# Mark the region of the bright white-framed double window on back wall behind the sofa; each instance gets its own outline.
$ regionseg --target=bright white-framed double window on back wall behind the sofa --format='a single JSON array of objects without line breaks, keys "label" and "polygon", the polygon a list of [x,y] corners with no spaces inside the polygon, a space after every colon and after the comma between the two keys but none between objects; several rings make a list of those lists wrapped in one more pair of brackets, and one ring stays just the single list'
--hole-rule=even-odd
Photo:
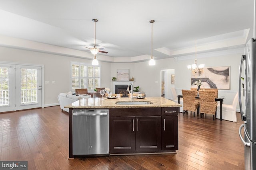
[{"label": "bright white-framed double window on back wall behind the sofa", "polygon": [[92,92],[100,87],[100,67],[83,63],[72,63],[72,91],[87,88]]}]

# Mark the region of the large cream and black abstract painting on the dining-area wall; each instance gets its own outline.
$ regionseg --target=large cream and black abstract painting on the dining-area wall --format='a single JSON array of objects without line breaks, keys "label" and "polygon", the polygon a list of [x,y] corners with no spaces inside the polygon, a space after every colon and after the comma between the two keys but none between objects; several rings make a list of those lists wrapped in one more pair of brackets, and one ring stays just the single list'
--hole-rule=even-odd
[{"label": "large cream and black abstract painting on the dining-area wall", "polygon": [[203,82],[200,88],[230,89],[230,66],[203,68],[201,72],[191,73],[191,87],[197,88],[194,82]]}]

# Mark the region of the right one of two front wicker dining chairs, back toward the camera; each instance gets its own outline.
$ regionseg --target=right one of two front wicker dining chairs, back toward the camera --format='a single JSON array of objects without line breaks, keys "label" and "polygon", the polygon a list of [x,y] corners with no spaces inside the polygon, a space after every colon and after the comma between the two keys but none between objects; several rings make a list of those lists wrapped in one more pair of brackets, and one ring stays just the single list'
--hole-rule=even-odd
[{"label": "right one of two front wicker dining chairs, back toward the camera", "polygon": [[215,102],[216,92],[211,90],[199,90],[200,97],[200,117],[202,114],[211,114],[212,119],[215,120],[217,103]]}]

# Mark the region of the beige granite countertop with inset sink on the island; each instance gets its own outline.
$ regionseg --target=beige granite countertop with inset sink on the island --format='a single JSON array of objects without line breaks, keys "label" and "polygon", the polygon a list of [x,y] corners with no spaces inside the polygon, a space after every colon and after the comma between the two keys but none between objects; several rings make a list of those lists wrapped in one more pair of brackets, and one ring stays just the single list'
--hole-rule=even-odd
[{"label": "beige granite countertop with inset sink on the island", "polygon": [[146,97],[144,99],[134,99],[134,102],[152,102],[153,104],[116,104],[120,101],[131,101],[131,98],[117,98],[117,99],[107,99],[107,98],[88,98],[81,99],[72,104],[65,106],[64,108],[124,108],[124,107],[181,107],[182,105],[168,100],[162,97]]}]

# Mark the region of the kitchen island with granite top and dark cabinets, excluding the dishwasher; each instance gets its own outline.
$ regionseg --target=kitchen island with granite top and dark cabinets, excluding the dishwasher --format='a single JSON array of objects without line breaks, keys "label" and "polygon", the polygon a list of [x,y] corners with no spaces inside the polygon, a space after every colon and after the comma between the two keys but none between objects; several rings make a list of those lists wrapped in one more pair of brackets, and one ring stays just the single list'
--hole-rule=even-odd
[{"label": "kitchen island with granite top and dark cabinets, excluding the dishwasher", "polygon": [[78,157],[72,148],[73,110],[108,109],[109,154],[156,154],[178,150],[180,106],[161,97],[78,100],[65,106],[69,108],[69,157]]}]

